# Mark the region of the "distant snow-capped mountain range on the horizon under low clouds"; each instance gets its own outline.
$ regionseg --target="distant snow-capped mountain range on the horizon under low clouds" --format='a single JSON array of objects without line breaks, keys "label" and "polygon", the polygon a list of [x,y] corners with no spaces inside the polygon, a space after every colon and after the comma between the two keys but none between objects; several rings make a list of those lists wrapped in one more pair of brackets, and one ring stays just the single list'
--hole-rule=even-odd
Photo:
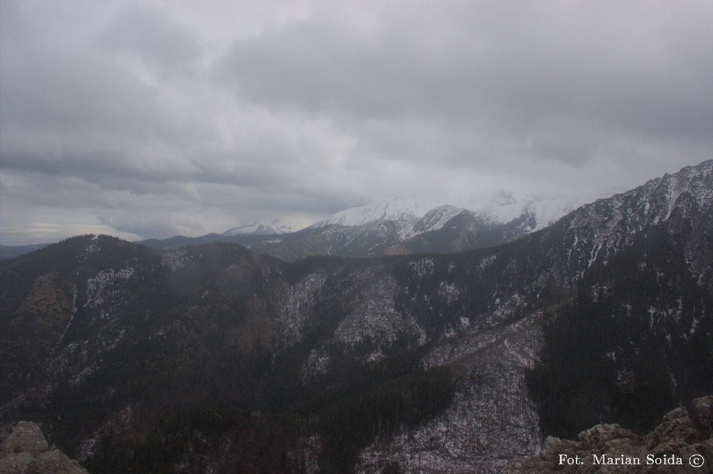
[{"label": "distant snow-capped mountain range on the horizon under low clouds", "polygon": [[495,246],[549,226],[593,196],[515,197],[501,191],[466,206],[434,206],[396,198],[340,211],[299,231],[278,221],[237,226],[222,234],[141,241],[153,248],[212,242],[240,243],[254,253],[294,261],[316,255],[371,257],[457,252]]}]

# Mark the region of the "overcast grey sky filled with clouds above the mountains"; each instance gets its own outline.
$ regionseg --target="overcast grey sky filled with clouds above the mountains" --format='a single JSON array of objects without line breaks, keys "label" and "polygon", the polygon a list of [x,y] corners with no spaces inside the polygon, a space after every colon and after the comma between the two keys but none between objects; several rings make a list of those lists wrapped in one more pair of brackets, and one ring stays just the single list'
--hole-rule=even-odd
[{"label": "overcast grey sky filled with clouds above the mountains", "polygon": [[0,16],[4,245],[565,196],[713,158],[709,0],[2,0]]}]

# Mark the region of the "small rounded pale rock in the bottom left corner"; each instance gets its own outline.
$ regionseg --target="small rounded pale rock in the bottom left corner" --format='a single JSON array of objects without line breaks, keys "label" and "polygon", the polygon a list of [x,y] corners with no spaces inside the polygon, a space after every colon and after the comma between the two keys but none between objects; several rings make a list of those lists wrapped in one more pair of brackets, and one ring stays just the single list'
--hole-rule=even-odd
[{"label": "small rounded pale rock in the bottom left corner", "polygon": [[0,444],[0,474],[88,474],[54,446],[49,446],[40,427],[20,421]]}]

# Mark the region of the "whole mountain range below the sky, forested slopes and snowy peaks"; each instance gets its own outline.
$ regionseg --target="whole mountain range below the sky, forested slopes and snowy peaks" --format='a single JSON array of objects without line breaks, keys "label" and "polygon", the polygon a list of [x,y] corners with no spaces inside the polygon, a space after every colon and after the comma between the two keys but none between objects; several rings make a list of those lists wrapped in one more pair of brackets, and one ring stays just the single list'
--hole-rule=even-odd
[{"label": "whole mountain range below the sky, forested slopes and snowy peaks", "polygon": [[497,472],[645,433],[713,392],[712,204],[708,161],[548,226],[403,202],[250,249],[70,238],[0,264],[0,426],[102,473]]}]

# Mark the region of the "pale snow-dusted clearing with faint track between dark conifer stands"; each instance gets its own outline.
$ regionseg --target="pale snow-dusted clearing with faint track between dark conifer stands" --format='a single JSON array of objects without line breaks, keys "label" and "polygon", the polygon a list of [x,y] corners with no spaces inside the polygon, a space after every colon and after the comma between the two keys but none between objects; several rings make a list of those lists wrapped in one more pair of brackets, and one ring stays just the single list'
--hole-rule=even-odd
[{"label": "pale snow-dusted clearing with faint track between dark conifer stands", "polygon": [[540,431],[527,397],[525,369],[539,349],[538,316],[487,332],[472,332],[457,360],[442,359],[458,373],[456,394],[440,416],[359,454],[356,472],[381,473],[388,463],[403,472],[499,472],[502,453],[538,451]]}]

